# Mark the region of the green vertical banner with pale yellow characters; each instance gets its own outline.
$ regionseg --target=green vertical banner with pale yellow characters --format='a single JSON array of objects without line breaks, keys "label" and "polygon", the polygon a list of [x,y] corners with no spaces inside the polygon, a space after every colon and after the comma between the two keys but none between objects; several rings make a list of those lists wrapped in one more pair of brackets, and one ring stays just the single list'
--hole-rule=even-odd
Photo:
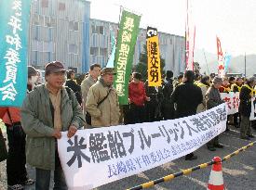
[{"label": "green vertical banner with pale yellow characters", "polygon": [[128,82],[141,16],[122,11],[115,50],[114,86],[120,105],[128,105]]}]

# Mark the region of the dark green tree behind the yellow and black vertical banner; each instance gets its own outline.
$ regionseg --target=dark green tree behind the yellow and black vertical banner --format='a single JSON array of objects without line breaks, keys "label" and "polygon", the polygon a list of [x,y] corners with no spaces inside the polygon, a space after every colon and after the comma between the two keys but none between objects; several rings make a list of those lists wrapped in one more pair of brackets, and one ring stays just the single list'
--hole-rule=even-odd
[{"label": "dark green tree behind the yellow and black vertical banner", "polygon": [[[161,66],[161,74],[163,75],[165,73],[164,68],[166,66],[166,60],[162,58],[161,55],[160,55],[160,66]],[[137,72],[141,72],[143,81],[146,81],[148,79],[147,67],[148,67],[147,46],[146,44],[144,44],[143,52],[141,53],[139,58],[139,63],[134,68]]]}]

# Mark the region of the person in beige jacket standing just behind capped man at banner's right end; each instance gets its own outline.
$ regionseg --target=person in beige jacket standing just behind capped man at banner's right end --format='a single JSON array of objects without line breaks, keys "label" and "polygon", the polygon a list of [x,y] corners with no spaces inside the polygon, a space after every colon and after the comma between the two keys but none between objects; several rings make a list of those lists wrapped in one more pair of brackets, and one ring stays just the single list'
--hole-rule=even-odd
[{"label": "person in beige jacket standing just behind capped man at banner's right end", "polygon": [[196,82],[196,85],[201,88],[202,95],[203,95],[203,102],[198,105],[196,109],[196,113],[200,113],[207,110],[207,99],[206,94],[209,89],[209,76],[205,75],[202,77],[200,82]]}]

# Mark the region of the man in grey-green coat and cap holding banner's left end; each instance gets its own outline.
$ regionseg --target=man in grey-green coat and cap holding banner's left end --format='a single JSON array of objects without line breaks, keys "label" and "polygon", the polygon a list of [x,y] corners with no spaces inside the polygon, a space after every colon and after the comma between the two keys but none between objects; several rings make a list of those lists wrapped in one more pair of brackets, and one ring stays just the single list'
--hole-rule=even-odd
[{"label": "man in grey-green coat and cap holding banner's left end", "polygon": [[61,62],[46,66],[46,83],[34,87],[23,102],[21,123],[27,134],[27,162],[35,167],[35,189],[49,189],[54,171],[54,189],[67,189],[57,150],[61,132],[72,137],[85,119],[74,92],[62,85],[65,69]]}]

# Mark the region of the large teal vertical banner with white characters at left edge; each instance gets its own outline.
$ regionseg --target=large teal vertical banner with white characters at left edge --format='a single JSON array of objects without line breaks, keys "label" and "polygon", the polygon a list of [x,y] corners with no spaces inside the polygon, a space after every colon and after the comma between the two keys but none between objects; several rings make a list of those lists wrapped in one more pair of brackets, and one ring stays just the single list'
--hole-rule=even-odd
[{"label": "large teal vertical banner with white characters at left edge", "polygon": [[20,107],[27,89],[30,0],[0,1],[0,107]]}]

